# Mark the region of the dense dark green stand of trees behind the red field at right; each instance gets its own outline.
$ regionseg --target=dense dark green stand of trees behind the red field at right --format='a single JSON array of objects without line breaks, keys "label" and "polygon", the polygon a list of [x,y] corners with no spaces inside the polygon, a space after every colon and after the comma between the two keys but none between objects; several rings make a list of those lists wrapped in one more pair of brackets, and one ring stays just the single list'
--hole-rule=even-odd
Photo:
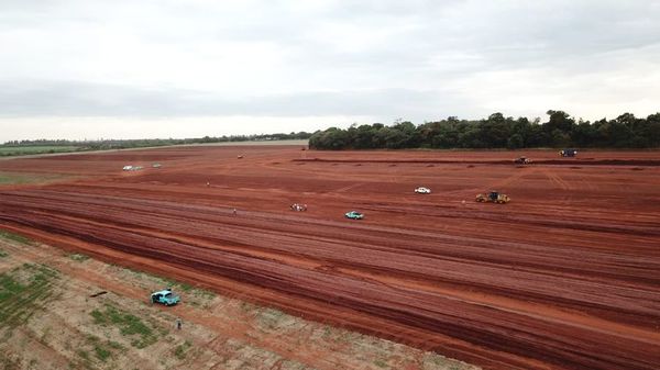
[{"label": "dense dark green stand of trees behind the red field at right", "polygon": [[505,117],[493,113],[479,121],[450,116],[415,125],[397,121],[331,127],[309,138],[314,149],[399,149],[399,148],[535,148],[535,147],[660,147],[660,113],[646,119],[625,113],[615,120],[588,122],[563,111],[548,111],[548,121]]}]

